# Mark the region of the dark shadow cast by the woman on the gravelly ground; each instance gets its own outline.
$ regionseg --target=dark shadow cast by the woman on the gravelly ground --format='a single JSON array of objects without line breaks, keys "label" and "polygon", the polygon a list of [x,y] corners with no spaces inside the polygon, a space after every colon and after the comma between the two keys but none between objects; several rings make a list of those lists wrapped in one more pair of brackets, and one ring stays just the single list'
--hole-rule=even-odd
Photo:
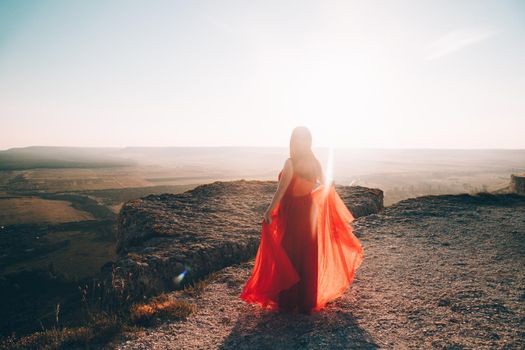
[{"label": "dark shadow cast by the woman on the gravelly ground", "polygon": [[219,349],[377,349],[350,312],[279,313],[244,305]]}]

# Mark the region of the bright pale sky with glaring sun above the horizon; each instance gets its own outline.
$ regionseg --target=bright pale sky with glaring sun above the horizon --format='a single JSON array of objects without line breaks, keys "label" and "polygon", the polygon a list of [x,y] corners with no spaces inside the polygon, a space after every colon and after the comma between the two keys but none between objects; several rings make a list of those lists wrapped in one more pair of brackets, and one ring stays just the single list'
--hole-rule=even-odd
[{"label": "bright pale sky with glaring sun above the horizon", "polygon": [[0,0],[0,149],[523,149],[524,38],[523,0]]}]

